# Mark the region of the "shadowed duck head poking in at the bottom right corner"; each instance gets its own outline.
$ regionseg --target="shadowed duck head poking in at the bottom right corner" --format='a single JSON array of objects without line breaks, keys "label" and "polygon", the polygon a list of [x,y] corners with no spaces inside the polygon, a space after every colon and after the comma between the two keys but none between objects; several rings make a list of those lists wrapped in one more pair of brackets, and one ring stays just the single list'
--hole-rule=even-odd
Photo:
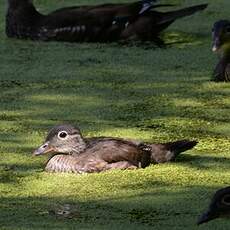
[{"label": "shadowed duck head poking in at the bottom right corner", "polygon": [[220,217],[230,217],[230,186],[216,191],[208,210],[199,217],[197,224],[204,224]]}]

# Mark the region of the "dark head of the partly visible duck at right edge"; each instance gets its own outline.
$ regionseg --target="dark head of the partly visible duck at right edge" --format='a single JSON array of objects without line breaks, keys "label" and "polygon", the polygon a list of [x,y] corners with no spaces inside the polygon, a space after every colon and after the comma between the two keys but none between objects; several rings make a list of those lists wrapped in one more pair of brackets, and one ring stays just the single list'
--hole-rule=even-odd
[{"label": "dark head of the partly visible duck at right edge", "polygon": [[230,21],[220,20],[214,23],[212,41],[213,52],[230,50]]}]

